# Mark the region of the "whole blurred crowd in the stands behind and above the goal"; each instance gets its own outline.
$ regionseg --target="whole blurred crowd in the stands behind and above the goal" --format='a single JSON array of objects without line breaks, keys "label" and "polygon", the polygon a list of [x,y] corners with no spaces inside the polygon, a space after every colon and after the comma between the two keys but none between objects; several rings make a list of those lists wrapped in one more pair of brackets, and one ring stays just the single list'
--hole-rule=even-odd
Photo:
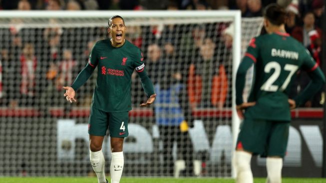
[{"label": "whole blurred crowd in the stands behind and above the goal", "polygon": [[[262,9],[272,2],[286,8],[286,30],[322,65],[323,0],[1,0],[0,7],[19,10],[240,9],[243,17],[255,17],[262,16]],[[107,37],[106,27],[85,31],[89,33],[71,36],[80,35],[80,29],[0,28],[1,105],[66,105],[61,87],[71,84],[87,63],[94,42]],[[142,49],[154,84],[168,89],[175,83],[183,83],[187,91],[181,93],[187,95],[180,97],[189,98],[190,103],[186,105],[222,108],[231,106],[232,32],[230,23],[151,25],[128,26],[126,36]],[[306,72],[297,74],[291,96],[309,82]],[[89,106],[92,96],[89,88],[93,88],[95,77],[81,88],[78,105]],[[138,95],[143,92],[140,92],[137,74],[132,78],[132,102],[137,105],[146,96]],[[12,83],[12,80],[18,82]],[[61,98],[46,99],[57,97]],[[305,106],[320,107],[324,98],[325,93],[321,91]]]}]

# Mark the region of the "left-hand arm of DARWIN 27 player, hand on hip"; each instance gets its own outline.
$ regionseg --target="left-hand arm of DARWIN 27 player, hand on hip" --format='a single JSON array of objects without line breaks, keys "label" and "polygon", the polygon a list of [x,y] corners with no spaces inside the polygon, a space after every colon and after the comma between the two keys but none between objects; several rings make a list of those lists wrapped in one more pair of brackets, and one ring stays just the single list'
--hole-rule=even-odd
[{"label": "left-hand arm of DARWIN 27 player, hand on hip", "polygon": [[259,48],[257,47],[256,38],[253,38],[247,48],[247,52],[243,57],[236,75],[236,104],[237,112],[240,118],[243,118],[242,110],[255,105],[256,102],[243,102],[243,90],[245,88],[246,74],[248,69],[256,63],[258,57]]}]

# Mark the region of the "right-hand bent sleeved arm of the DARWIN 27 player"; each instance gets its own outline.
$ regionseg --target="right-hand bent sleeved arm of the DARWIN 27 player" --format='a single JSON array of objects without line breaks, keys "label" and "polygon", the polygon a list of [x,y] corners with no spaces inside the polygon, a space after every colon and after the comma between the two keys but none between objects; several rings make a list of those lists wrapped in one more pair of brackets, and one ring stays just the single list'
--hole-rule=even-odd
[{"label": "right-hand bent sleeved arm of the DARWIN 27 player", "polygon": [[311,98],[311,96],[320,91],[325,84],[325,75],[322,69],[308,53],[303,64],[303,69],[308,72],[311,81],[305,87],[305,89],[294,98],[297,107],[304,104],[307,100],[309,100],[309,98]]}]

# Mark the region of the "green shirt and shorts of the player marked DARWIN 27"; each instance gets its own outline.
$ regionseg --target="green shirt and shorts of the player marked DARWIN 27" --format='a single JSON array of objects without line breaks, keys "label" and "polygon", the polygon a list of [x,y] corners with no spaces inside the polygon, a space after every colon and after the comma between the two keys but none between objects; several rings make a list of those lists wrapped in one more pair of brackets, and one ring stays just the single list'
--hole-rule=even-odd
[{"label": "green shirt and shorts of the player marked DARWIN 27", "polygon": [[306,70],[310,84],[294,98],[305,103],[325,83],[325,76],[309,51],[287,33],[255,37],[237,71],[236,103],[243,103],[247,70],[254,64],[253,86],[237,140],[237,148],[262,156],[285,155],[291,120],[289,92],[299,69]]}]

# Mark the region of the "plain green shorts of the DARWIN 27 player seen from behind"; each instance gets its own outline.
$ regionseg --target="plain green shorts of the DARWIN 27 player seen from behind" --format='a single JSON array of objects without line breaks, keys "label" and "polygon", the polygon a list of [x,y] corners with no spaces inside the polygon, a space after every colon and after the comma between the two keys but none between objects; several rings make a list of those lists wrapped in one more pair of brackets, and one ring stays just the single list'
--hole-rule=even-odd
[{"label": "plain green shorts of the DARWIN 27 player seen from behind", "polygon": [[289,137],[290,121],[246,118],[241,124],[237,147],[253,154],[284,157]]}]

